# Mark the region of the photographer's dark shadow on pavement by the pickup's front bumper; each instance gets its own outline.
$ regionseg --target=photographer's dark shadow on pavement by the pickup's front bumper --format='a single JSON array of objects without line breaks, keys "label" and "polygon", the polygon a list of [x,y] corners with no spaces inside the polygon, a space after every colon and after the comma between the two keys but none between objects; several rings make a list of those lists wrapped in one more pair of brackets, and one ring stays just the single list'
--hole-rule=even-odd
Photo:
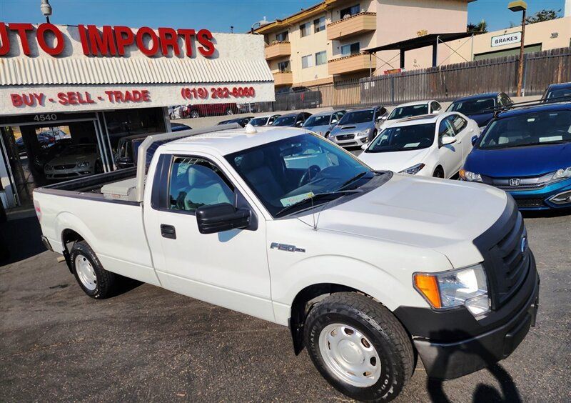
[{"label": "photographer's dark shadow on pavement by the pickup's front bumper", "polygon": [[[460,337],[460,339],[471,339],[469,334],[465,334],[464,337]],[[460,347],[460,350],[462,347]],[[475,342],[470,347],[471,353],[467,352],[465,359],[469,359],[470,354],[473,354],[477,351],[477,354],[482,357],[482,359],[489,363],[489,367],[485,368],[492,376],[497,380],[500,384],[500,390],[497,390],[495,387],[492,387],[489,384],[477,384],[475,390],[473,392],[472,401],[474,403],[480,402],[514,402],[514,403],[521,403],[522,399],[520,397],[520,393],[517,391],[517,387],[513,382],[513,378],[511,375],[502,367],[501,364],[497,363],[497,359],[495,358],[495,354],[488,351],[487,348],[479,343]],[[439,359],[437,362],[436,367],[443,368],[443,371],[446,372],[446,369],[450,365],[448,362],[448,357],[443,357],[443,359]],[[470,365],[468,365],[470,366]],[[484,370],[484,369],[481,369]],[[443,388],[443,381],[440,379],[427,379],[426,382],[426,389],[428,390],[428,394],[430,395],[430,399],[433,402],[452,402],[448,399],[448,396],[444,392]]]}]

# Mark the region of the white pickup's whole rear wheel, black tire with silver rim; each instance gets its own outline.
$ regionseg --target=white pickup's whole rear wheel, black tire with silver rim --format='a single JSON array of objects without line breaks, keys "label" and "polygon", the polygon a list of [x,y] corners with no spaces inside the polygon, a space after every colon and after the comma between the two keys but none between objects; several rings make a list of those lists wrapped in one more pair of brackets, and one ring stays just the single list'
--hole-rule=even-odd
[{"label": "white pickup's whole rear wheel, black tire with silver rim", "polygon": [[79,287],[94,299],[111,297],[120,276],[103,269],[95,252],[85,241],[76,242],[69,253],[71,268]]}]

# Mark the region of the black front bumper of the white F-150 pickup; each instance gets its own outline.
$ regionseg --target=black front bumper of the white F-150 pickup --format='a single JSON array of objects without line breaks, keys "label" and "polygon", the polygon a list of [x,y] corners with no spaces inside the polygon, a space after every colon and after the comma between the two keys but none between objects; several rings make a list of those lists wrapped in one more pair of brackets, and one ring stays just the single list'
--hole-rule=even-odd
[{"label": "black front bumper of the white F-150 pickup", "polygon": [[399,307],[395,311],[413,335],[428,377],[462,377],[512,354],[530,327],[535,326],[540,279],[533,259],[531,266],[525,283],[512,300],[480,321],[464,308],[435,312]]}]

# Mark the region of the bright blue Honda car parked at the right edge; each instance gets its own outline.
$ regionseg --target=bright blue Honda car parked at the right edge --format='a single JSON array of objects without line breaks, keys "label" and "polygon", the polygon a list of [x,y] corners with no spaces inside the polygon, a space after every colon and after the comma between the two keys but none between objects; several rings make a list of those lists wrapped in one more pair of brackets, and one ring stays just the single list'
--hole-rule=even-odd
[{"label": "bright blue Honda car parked at the right edge", "polygon": [[520,210],[571,207],[571,103],[498,114],[475,140],[460,178],[504,189]]}]

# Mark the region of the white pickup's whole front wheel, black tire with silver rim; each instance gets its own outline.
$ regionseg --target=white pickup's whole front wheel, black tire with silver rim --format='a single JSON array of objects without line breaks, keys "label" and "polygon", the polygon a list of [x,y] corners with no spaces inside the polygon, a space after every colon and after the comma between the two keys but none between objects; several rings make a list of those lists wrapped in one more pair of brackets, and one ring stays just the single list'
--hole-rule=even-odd
[{"label": "white pickup's whole front wheel, black tire with silver rim", "polygon": [[363,294],[340,292],[313,307],[305,346],[320,374],[357,400],[388,402],[413,374],[413,346],[393,314]]}]

